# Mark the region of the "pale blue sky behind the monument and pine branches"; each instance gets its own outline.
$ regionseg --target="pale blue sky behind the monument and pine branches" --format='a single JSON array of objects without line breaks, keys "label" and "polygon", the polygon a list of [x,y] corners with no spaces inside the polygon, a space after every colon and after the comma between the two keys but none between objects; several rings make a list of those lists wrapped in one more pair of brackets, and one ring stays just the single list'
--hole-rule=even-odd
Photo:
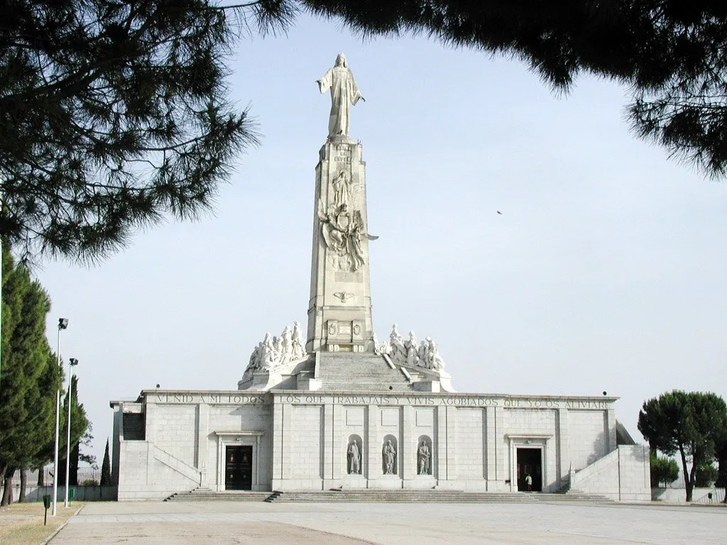
[{"label": "pale blue sky behind the monument and pine branches", "polygon": [[[103,456],[108,401],[235,389],[266,331],[305,323],[314,168],[330,98],[314,81],[345,52],[366,102],[374,328],[433,336],[460,392],[727,397],[727,185],[667,160],[624,121],[626,89],[580,78],[554,94],[526,65],[426,39],[362,43],[300,17],[243,39],[230,88],[264,135],[217,214],[140,233],[85,269],[48,262],[63,358]],[[497,210],[504,212],[498,215]]]}]

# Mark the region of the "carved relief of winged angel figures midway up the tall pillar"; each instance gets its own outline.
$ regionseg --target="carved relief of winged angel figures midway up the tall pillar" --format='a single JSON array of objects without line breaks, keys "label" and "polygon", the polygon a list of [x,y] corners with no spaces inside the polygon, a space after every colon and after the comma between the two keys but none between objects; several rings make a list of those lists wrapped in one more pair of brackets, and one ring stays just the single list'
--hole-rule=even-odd
[{"label": "carved relief of winged angel figures midway up the tall pillar", "polygon": [[351,213],[348,205],[342,204],[325,212],[323,201],[318,200],[318,219],[321,221],[321,234],[326,246],[332,251],[333,257],[338,257],[333,260],[337,270],[356,271],[364,265],[361,236],[365,234],[365,229],[361,211]]}]

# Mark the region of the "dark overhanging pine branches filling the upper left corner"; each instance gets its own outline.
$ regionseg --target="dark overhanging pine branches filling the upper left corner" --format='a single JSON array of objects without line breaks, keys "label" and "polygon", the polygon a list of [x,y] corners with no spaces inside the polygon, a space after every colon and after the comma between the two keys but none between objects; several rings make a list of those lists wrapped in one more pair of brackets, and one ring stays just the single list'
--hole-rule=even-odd
[{"label": "dark overhanging pine branches filling the upper left corner", "polygon": [[24,256],[97,259],[166,215],[209,209],[257,142],[227,99],[232,23],[265,28],[277,4],[231,22],[206,0],[4,2],[0,235]]}]

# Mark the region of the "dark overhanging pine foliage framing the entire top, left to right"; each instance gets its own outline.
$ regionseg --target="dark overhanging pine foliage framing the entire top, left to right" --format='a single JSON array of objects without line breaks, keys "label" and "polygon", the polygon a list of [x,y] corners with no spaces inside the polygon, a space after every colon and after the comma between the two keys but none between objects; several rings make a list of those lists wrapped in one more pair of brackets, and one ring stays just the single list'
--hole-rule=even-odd
[{"label": "dark overhanging pine foliage framing the entire top, left to right", "polygon": [[641,137],[727,173],[723,0],[7,0],[0,18],[0,235],[23,257],[102,259],[145,227],[211,209],[257,142],[230,105],[241,31],[299,11],[364,36],[425,34],[632,89]]}]

